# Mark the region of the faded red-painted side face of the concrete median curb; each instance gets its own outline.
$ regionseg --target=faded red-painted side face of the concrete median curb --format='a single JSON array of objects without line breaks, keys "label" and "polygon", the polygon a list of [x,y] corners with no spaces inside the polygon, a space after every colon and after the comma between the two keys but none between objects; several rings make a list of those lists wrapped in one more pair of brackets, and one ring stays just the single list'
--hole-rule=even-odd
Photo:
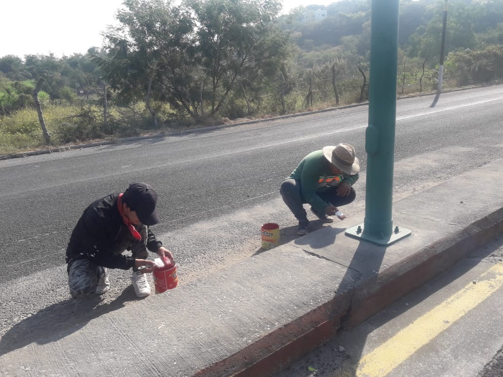
[{"label": "faded red-painted side face of the concrete median curb", "polygon": [[[194,375],[257,377],[278,372],[326,342],[338,330],[360,325],[502,232],[503,208],[500,208],[362,281],[353,292],[336,295],[287,326]],[[284,345],[275,349],[278,344]]]}]

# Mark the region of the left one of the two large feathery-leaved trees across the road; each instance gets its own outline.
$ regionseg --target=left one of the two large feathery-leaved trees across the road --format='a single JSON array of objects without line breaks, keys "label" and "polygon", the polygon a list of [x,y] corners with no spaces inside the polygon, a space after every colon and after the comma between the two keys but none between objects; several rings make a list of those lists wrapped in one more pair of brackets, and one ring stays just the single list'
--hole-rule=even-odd
[{"label": "left one of the two large feathery-leaved trees across the road", "polygon": [[124,6],[116,17],[121,25],[108,28],[104,51],[95,55],[95,62],[118,91],[119,101],[145,100],[155,124],[151,100],[172,100],[165,83],[171,82],[178,95],[185,94],[178,86],[193,55],[189,36],[194,23],[184,9],[162,0],[126,0]]}]

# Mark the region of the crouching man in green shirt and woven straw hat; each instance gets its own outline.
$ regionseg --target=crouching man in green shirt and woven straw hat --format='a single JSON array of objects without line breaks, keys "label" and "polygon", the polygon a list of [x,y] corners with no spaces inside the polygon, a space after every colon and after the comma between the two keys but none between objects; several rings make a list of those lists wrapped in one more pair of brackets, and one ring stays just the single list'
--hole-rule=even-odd
[{"label": "crouching man in green shirt and woven straw hat", "polygon": [[356,198],[353,184],[358,179],[360,162],[352,145],[326,146],[305,156],[281,184],[280,193],[299,220],[297,234],[305,235],[309,221],[303,204],[325,223],[333,222],[338,207]]}]

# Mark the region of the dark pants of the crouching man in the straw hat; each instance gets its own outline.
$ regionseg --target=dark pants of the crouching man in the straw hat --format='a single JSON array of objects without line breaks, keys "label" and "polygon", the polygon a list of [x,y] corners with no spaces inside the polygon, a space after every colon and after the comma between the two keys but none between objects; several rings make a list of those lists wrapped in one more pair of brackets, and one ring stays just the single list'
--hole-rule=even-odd
[{"label": "dark pants of the crouching man in the straw hat", "polygon": [[[355,200],[356,192],[353,187],[351,187],[351,193],[346,197],[337,195],[337,188],[337,186],[332,187],[324,193],[319,193],[318,197],[334,207],[344,206],[345,204],[349,204]],[[303,206],[303,204],[307,202],[302,197],[300,181],[293,178],[285,179],[283,183],[281,183],[280,193],[283,197],[283,201],[288,206],[290,211],[292,211],[295,218],[299,221],[307,221],[306,210]]]}]

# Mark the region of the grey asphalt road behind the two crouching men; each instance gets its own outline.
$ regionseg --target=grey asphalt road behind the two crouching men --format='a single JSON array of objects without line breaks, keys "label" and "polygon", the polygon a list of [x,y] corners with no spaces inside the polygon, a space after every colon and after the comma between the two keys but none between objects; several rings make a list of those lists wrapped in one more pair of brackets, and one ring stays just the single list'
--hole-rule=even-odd
[{"label": "grey asphalt road behind the two crouching men", "polygon": [[[503,86],[443,93],[433,109],[432,101],[397,102],[394,199],[503,157]],[[365,204],[367,122],[368,107],[359,106],[0,161],[0,277],[63,267],[83,209],[132,181],[159,194],[153,230],[174,252],[181,284],[244,260],[261,251],[264,222],[280,224],[282,242],[296,237],[279,185],[307,153],[339,142],[356,147],[362,166],[357,201],[345,209],[351,216]],[[460,190],[476,195],[479,184],[483,177]]]}]

